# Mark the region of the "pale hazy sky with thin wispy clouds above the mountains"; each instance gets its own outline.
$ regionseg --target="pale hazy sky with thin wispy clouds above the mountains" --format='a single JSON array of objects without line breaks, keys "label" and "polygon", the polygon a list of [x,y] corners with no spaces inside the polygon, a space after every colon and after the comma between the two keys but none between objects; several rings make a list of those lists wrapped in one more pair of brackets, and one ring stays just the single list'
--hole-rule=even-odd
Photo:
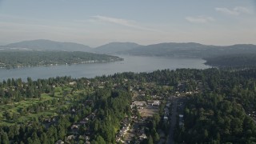
[{"label": "pale hazy sky with thin wispy clouds above the mountains", "polygon": [[254,0],[0,0],[0,45],[79,42],[256,44]]}]

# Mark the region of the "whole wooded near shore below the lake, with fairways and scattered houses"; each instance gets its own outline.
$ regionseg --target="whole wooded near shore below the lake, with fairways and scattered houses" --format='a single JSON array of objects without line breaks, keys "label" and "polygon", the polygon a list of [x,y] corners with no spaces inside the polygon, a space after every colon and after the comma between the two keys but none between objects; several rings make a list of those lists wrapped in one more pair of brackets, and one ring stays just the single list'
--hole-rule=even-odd
[{"label": "whole wooded near shore below the lake, with fairways and scattered houses", "polygon": [[162,99],[142,143],[157,143],[161,127],[168,134],[163,109],[177,93],[186,94],[186,104],[184,125],[177,124],[174,132],[176,142],[256,142],[255,79],[254,69],[8,79],[0,82],[0,143],[115,143],[121,123],[138,113],[130,107],[135,89],[145,91],[146,101],[151,98],[147,95]]}]

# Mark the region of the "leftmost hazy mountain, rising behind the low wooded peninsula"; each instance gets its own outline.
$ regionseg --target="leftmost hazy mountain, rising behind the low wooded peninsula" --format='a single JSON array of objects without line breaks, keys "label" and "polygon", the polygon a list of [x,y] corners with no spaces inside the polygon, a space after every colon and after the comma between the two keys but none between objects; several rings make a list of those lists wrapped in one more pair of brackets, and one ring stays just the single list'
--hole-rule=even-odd
[{"label": "leftmost hazy mountain, rising behind the low wooded peninsula", "polygon": [[10,43],[2,46],[6,49],[25,49],[25,50],[63,50],[63,51],[90,51],[89,46],[74,42],[54,42],[46,39],[37,39],[31,41],[22,41]]}]

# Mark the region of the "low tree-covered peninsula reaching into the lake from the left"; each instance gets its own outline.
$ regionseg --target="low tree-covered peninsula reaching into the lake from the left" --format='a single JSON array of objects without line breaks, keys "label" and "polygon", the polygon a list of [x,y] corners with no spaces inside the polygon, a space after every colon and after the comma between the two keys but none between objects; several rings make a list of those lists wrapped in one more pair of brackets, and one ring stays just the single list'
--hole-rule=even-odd
[{"label": "low tree-covered peninsula reaching into the lake from the left", "polygon": [[52,66],[87,62],[113,62],[122,58],[106,54],[75,51],[2,51],[0,67]]}]

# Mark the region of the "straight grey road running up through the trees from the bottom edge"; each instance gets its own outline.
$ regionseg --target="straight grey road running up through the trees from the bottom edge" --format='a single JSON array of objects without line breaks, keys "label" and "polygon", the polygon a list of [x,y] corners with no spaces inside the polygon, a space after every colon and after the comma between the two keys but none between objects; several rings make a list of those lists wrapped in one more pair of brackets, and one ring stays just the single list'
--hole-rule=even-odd
[{"label": "straight grey road running up through the trees from the bottom edge", "polygon": [[174,139],[173,139],[173,135],[174,135],[174,128],[176,126],[176,115],[177,115],[177,101],[178,98],[174,98],[173,100],[173,105],[172,105],[172,110],[171,110],[171,124],[170,124],[170,132],[169,132],[169,136],[167,138],[167,142],[168,144],[173,144],[174,143]]}]

